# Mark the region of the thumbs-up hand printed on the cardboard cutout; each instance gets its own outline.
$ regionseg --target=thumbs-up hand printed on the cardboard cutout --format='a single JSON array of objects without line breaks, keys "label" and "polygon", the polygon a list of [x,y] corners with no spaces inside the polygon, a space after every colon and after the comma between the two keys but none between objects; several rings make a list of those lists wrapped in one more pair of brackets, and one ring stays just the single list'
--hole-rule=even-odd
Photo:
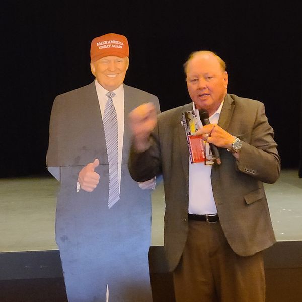
[{"label": "thumbs-up hand printed on the cardboard cutout", "polygon": [[81,189],[86,192],[92,192],[98,185],[100,175],[94,170],[100,165],[98,159],[95,159],[93,163],[87,164],[79,173],[78,182]]}]

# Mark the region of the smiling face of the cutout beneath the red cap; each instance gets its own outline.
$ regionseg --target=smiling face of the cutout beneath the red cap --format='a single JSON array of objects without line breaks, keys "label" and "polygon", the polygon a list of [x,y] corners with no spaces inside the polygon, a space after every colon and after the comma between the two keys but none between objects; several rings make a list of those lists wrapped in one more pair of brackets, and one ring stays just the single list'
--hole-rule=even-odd
[{"label": "smiling face of the cutout beneath the red cap", "polygon": [[128,57],[106,56],[91,62],[91,72],[99,84],[108,91],[117,89],[125,79],[129,66]]}]

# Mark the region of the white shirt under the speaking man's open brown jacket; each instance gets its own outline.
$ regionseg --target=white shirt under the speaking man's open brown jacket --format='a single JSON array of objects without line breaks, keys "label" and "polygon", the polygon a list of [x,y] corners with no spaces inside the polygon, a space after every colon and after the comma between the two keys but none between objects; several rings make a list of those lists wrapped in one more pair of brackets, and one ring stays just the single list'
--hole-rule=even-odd
[{"label": "white shirt under the speaking man's open brown jacket", "polygon": [[[217,124],[223,101],[216,112],[209,117],[211,124]],[[195,104],[193,103],[193,110]],[[199,114],[197,114],[199,119]],[[202,125],[199,119],[200,125]],[[217,208],[214,200],[211,171],[212,165],[201,163],[191,163],[189,160],[189,214],[217,214]]]}]

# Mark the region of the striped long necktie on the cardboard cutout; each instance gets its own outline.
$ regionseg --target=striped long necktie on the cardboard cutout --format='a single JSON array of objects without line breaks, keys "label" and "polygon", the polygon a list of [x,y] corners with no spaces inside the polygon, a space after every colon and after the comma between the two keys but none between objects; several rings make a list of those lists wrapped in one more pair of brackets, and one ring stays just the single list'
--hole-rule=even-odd
[{"label": "striped long necktie on the cardboard cutout", "polygon": [[119,200],[119,181],[118,181],[118,138],[117,138],[117,115],[112,98],[115,93],[109,91],[106,93],[108,97],[104,111],[104,132],[106,140],[106,148],[109,164],[109,196],[108,208],[111,208]]}]

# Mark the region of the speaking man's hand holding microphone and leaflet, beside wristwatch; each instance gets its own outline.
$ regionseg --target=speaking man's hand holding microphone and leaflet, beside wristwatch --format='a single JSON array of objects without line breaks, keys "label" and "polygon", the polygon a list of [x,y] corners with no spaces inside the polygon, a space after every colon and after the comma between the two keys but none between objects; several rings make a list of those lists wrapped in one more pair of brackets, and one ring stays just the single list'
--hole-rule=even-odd
[{"label": "speaking man's hand holding microphone and leaflet, beside wristwatch", "polygon": [[203,126],[196,132],[196,135],[202,135],[202,138],[216,147],[231,149],[235,138],[230,133],[219,127],[217,124]]}]

